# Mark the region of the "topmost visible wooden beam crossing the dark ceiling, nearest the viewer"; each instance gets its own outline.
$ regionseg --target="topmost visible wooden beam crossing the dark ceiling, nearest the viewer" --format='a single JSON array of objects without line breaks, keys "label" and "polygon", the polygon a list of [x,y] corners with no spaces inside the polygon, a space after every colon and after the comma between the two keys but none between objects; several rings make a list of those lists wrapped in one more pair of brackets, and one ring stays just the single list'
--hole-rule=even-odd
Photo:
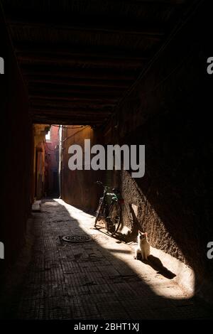
[{"label": "topmost visible wooden beam crossing the dark ceiling, nearest the viewer", "polygon": [[23,11],[10,11],[6,14],[6,23],[11,28],[30,27],[30,28],[48,28],[56,29],[58,31],[73,31],[75,33],[118,33],[122,35],[140,35],[146,38],[159,40],[164,36],[165,29],[162,25],[158,27],[143,26],[140,21],[113,19],[113,18],[97,18],[92,16],[72,17],[64,14],[49,13],[49,15],[42,15],[38,18],[37,13]]}]

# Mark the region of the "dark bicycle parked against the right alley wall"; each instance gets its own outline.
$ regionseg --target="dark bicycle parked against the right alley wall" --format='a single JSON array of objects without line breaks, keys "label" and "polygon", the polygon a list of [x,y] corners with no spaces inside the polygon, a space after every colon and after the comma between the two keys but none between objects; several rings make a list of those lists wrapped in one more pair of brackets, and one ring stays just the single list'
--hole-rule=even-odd
[{"label": "dark bicycle parked against the right alley wall", "polygon": [[[97,222],[104,219],[105,228],[110,235],[115,235],[121,225],[121,205],[124,200],[121,198],[119,188],[109,187],[101,181],[96,182],[104,187],[103,196],[99,199],[96,217],[94,220],[94,228]],[[112,190],[113,193],[109,193]],[[107,195],[111,196],[111,203],[107,204]]]}]

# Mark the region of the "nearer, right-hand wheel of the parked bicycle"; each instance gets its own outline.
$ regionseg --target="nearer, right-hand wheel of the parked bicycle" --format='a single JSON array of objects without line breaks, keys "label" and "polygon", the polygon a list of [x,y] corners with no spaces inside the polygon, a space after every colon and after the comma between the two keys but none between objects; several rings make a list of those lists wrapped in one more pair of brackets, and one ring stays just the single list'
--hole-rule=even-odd
[{"label": "nearer, right-hand wheel of the parked bicycle", "polygon": [[107,232],[114,235],[121,225],[121,204],[119,202],[113,202],[109,208],[109,214],[107,217]]}]

